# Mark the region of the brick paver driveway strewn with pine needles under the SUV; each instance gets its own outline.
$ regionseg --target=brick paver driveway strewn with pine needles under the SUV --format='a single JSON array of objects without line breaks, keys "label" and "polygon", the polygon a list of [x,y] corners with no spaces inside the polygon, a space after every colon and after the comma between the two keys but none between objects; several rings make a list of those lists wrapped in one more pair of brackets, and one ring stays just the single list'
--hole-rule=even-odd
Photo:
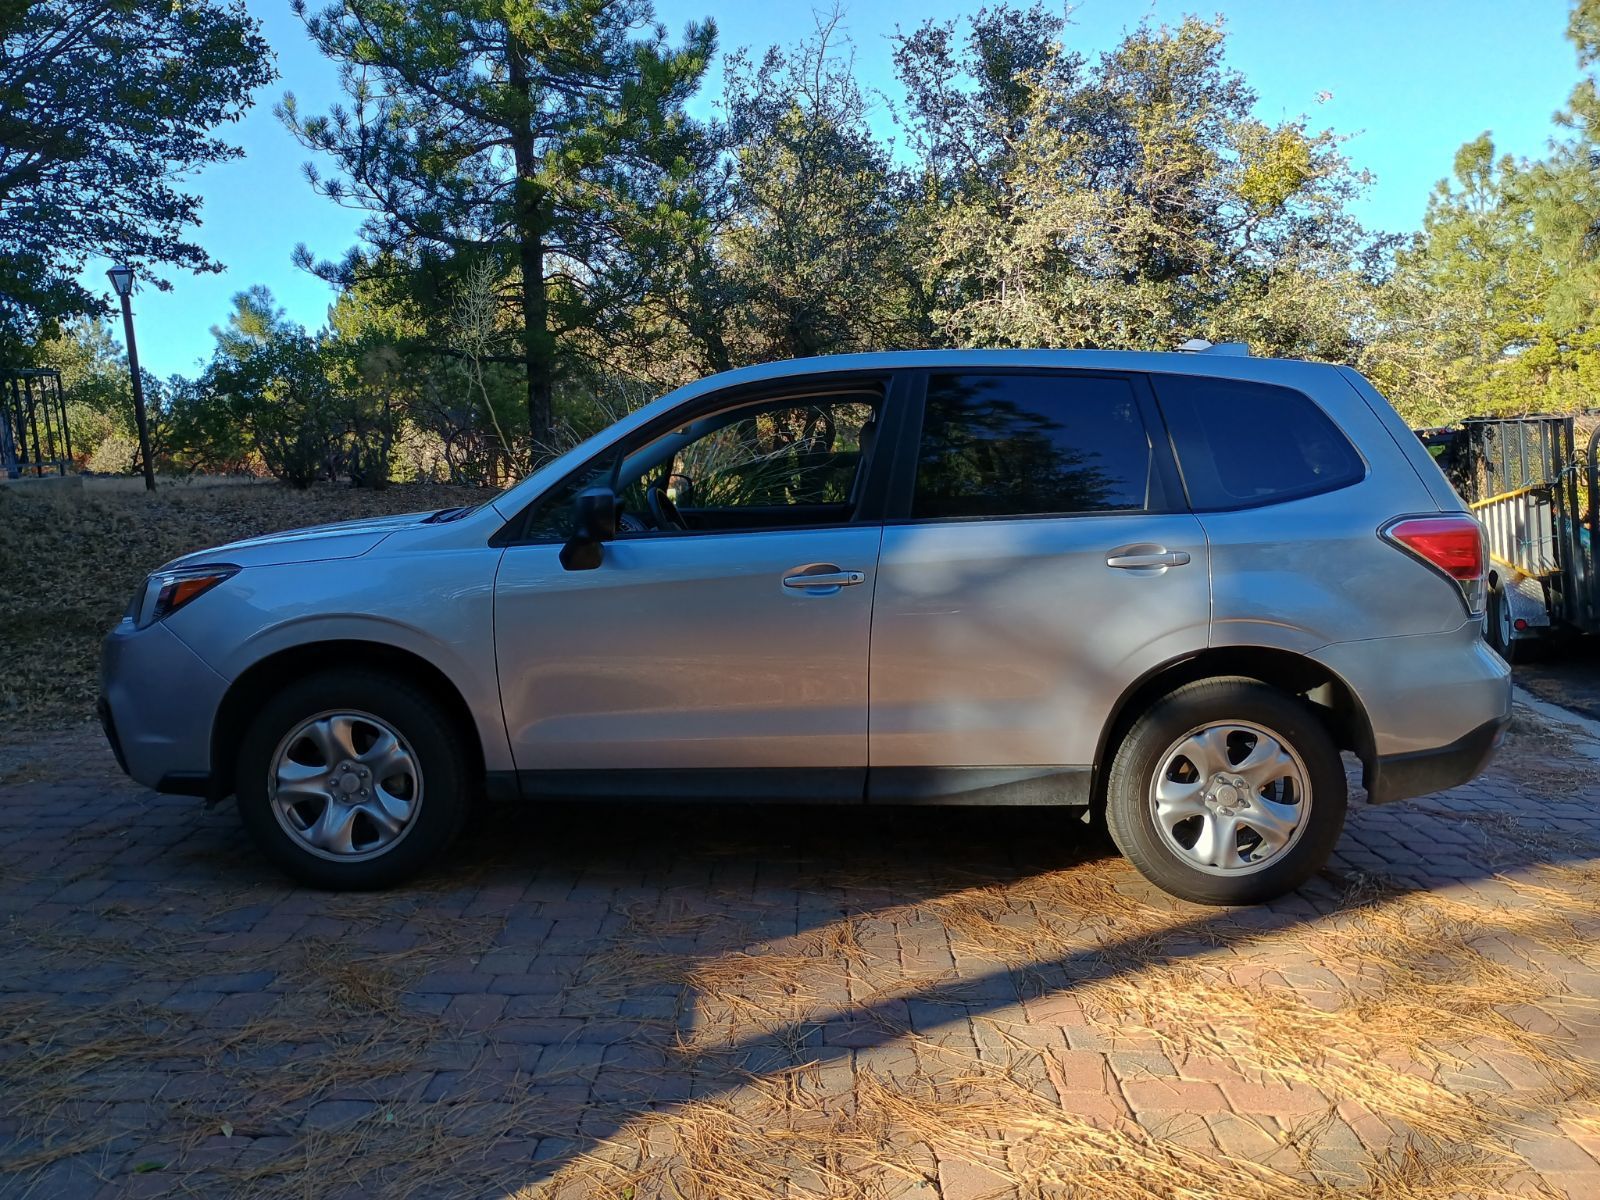
[{"label": "brick paver driveway strewn with pine needles under the SUV", "polygon": [[1600,1195],[1600,763],[1254,910],[1027,811],[486,813],[374,896],[0,747],[0,1195]]}]

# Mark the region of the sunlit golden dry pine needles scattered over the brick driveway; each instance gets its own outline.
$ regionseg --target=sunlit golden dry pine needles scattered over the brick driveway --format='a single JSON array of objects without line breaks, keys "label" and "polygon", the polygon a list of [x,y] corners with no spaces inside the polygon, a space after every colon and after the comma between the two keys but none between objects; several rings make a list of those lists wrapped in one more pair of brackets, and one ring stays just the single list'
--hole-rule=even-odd
[{"label": "sunlit golden dry pine needles scattered over the brick driveway", "polygon": [[[1499,829],[1496,837],[1504,845],[1517,832]],[[1534,840],[1523,845],[1525,858],[1547,842]],[[1565,840],[1563,850],[1576,846]],[[1077,866],[870,920],[933,917],[957,946],[1016,966],[1094,962],[1098,947],[1098,968],[1072,995],[1114,1040],[1154,1040],[1174,1061],[1312,1086],[1382,1118],[1395,1134],[1360,1163],[1363,1195],[1526,1195],[1514,1138],[1530,1118],[1600,1125],[1600,1064],[1520,1019],[1528,1011],[1590,1019],[1595,997],[1570,995],[1549,970],[1501,954],[1509,944],[1534,946],[1581,965],[1590,941],[1579,925],[1600,904],[1592,866],[1533,866],[1501,880],[1538,907],[1357,877],[1328,917],[1267,931],[1222,922],[1218,952],[1200,955],[1174,954],[1168,939],[1184,922],[1118,891],[1118,878],[1125,872],[1110,864]],[[1069,899],[1088,907],[1069,907]],[[704,1061],[715,1058],[718,1038],[749,1045],[850,1011],[840,994],[872,966],[856,936],[862,923],[838,922],[770,957],[734,950],[693,966],[653,958],[648,971],[683,968],[696,1005],[726,1014],[683,1046]],[[1242,971],[1242,963],[1262,970]],[[1336,966],[1338,976],[1325,987],[1296,974],[1296,965]],[[938,997],[938,982],[922,995]],[[789,1181],[790,1194],[867,1200],[898,1194],[907,1179],[933,1179],[936,1160],[946,1158],[979,1163],[1022,1197],[1326,1197],[1352,1186],[1328,1170],[1333,1107],[1277,1133],[1282,1155],[1251,1163],[1133,1122],[1077,1115],[1064,1086],[1043,1086],[1059,1082],[1048,1050],[1008,1038],[1011,1053],[995,1061],[886,1032],[915,1051],[914,1074],[858,1070],[848,1098],[816,1067],[742,1078],[718,1098],[629,1122],[606,1139],[605,1154],[571,1160],[526,1194],[755,1200]],[[1494,1059],[1546,1083],[1510,1093],[1453,1074]]]}]

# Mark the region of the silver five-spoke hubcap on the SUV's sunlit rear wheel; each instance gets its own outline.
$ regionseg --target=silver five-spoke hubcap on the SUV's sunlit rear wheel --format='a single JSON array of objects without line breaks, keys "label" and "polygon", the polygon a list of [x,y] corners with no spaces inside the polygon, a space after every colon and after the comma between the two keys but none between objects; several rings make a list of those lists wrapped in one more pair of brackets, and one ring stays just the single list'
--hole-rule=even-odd
[{"label": "silver five-spoke hubcap on the SUV's sunlit rear wheel", "polygon": [[1211,875],[1261,870],[1293,846],[1310,813],[1306,763],[1272,730],[1218,722],[1162,755],[1150,813],[1162,840]]}]

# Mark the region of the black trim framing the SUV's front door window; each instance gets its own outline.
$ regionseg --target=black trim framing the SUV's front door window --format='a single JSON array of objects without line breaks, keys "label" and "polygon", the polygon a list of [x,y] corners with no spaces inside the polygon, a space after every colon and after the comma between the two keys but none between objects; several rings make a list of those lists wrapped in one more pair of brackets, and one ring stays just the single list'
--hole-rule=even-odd
[{"label": "black trim framing the SUV's front door window", "polygon": [[[672,429],[688,424],[690,421],[698,421],[709,413],[715,413],[723,408],[734,408],[746,403],[782,403],[786,397],[795,400],[814,395],[842,395],[850,392],[882,392],[883,400],[878,410],[878,435],[875,448],[872,451],[872,461],[867,466],[867,486],[862,493],[861,504],[856,512],[851,514],[846,522],[826,522],[816,525],[782,525],[771,530],[688,530],[683,533],[666,534],[666,538],[738,538],[752,533],[803,533],[808,530],[842,530],[856,528],[862,525],[882,525],[885,512],[885,498],[888,491],[888,470],[894,461],[894,454],[890,454],[890,446],[894,446],[899,438],[899,424],[904,419],[904,410],[907,408],[907,373],[893,368],[880,370],[851,370],[851,371],[827,371],[816,374],[795,374],[782,379],[763,379],[754,384],[734,384],[731,387],[720,387],[704,395],[686,400],[677,408],[672,408],[654,421],[650,421],[630,434],[624,434],[621,438],[608,445],[598,454],[584,459],[579,466],[573,467],[570,472],[562,475],[549,488],[544,488],[538,496],[522,506],[517,515],[507,520],[491,538],[490,546],[498,547],[515,547],[515,546],[562,546],[560,538],[528,538],[523,530],[533,515],[533,510],[539,507],[546,496],[554,491],[565,488],[574,478],[592,470],[598,462],[608,458],[621,458],[629,453],[630,448],[645,445],[646,442],[661,437]],[[650,541],[659,534],[651,534],[650,538],[630,538],[629,541]],[[619,536],[621,541],[621,536]]]}]

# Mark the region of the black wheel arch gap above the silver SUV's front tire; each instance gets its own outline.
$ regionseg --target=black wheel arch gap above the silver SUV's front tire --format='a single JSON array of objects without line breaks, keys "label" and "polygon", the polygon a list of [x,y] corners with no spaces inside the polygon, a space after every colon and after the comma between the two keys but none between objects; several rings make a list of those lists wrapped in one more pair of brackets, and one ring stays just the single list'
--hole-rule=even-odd
[{"label": "black wheel arch gap above the silver SUV's front tire", "polygon": [[216,718],[211,722],[213,798],[221,798],[234,790],[238,742],[251,718],[259,712],[261,702],[293,680],[330,667],[376,670],[419,683],[429,696],[443,704],[462,738],[472,770],[478,776],[483,774],[482,733],[461,688],[443,670],[421,654],[400,646],[360,638],[333,638],[278,650],[258,659],[234,678],[218,706]]}]

